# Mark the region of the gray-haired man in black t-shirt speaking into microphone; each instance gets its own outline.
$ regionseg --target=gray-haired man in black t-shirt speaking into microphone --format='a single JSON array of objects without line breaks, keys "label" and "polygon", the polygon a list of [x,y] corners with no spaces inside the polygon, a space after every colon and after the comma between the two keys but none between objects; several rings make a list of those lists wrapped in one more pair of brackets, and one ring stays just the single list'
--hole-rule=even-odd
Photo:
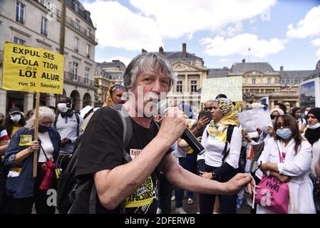
[{"label": "gray-haired man in black t-shirt speaking into microphone", "polygon": [[[239,174],[227,183],[219,183],[194,175],[177,164],[170,147],[187,128],[187,117],[177,107],[170,108],[158,130],[152,116],[153,101],[160,99],[161,93],[168,93],[174,81],[170,63],[158,54],[140,54],[128,65],[124,83],[130,96],[124,107],[131,118],[133,135],[125,150],[133,158],[131,162],[123,165],[123,125],[115,110],[100,108],[88,123],[76,176],[93,176],[98,193],[97,213],[118,213],[123,200],[125,212],[155,213],[160,170],[173,185],[191,192],[234,194],[250,185],[249,175]],[[83,192],[71,213],[88,213],[90,190]]]}]

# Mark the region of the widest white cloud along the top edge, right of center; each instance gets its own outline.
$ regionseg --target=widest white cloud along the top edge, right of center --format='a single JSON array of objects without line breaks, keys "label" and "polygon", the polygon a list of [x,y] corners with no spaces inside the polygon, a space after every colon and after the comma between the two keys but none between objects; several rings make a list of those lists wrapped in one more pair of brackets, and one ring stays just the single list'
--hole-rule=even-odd
[{"label": "widest white cloud along the top edge, right of center", "polygon": [[[155,19],[163,38],[190,36],[197,31],[218,31],[263,14],[277,0],[130,0],[136,9]],[[254,9],[254,10],[252,10]]]}]

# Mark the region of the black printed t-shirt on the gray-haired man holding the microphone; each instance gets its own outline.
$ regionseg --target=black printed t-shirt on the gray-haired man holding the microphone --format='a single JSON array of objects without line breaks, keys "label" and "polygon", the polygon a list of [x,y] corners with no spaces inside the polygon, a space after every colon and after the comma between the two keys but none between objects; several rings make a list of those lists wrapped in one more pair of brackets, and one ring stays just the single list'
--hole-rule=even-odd
[{"label": "black printed t-shirt on the gray-haired man holding the microphone", "polygon": [[[134,159],[148,143],[158,134],[154,122],[150,128],[143,128],[131,119],[133,134],[129,147],[125,150]],[[111,170],[123,165],[123,123],[118,113],[111,108],[100,108],[91,118],[83,133],[79,150],[76,177],[92,178],[92,174],[100,170]],[[159,173],[157,167],[143,182],[133,195],[125,200],[126,213],[155,213],[159,190]],[[91,187],[83,190],[73,204],[71,212],[88,213]],[[96,197],[97,213],[119,213],[120,206],[115,210],[105,209]]]}]

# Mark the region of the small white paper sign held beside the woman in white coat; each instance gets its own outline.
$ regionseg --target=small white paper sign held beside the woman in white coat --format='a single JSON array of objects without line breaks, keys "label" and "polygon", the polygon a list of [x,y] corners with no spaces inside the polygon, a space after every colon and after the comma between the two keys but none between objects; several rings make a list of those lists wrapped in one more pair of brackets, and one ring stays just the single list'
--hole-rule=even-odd
[{"label": "small white paper sign held beside the woman in white coat", "polygon": [[269,111],[264,108],[255,108],[239,113],[239,123],[247,133],[256,132],[257,128],[263,130],[267,126],[272,126]]}]

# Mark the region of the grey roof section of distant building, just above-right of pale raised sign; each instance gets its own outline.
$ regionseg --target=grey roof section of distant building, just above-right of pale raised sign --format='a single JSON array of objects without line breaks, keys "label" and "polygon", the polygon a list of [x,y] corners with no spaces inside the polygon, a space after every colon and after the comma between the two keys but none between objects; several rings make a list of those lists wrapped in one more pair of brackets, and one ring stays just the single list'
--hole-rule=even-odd
[{"label": "grey roof section of distant building, just above-right of pale raised sign", "polygon": [[269,63],[233,63],[231,73],[246,73],[248,71],[260,71],[262,73],[274,72]]}]

